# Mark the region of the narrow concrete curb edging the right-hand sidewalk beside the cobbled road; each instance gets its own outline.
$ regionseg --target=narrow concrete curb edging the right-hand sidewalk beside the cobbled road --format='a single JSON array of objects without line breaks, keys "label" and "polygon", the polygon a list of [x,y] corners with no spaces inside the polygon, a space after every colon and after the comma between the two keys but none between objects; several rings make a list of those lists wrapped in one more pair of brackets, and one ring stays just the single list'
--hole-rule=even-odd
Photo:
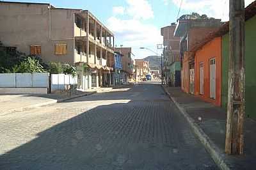
[{"label": "narrow concrete curb edging the right-hand sidewalk beside the cobbled road", "polygon": [[221,152],[220,148],[218,148],[218,146],[216,146],[216,144],[214,144],[212,142],[212,140],[209,138],[209,136],[207,136],[204,133],[202,128],[200,128],[198,125],[196,125],[195,120],[193,120],[193,118],[191,118],[191,116],[189,116],[188,112],[186,112],[186,109],[184,109],[184,107],[180,106],[180,104],[175,100],[175,98],[173,98],[170,95],[170,93],[166,90],[166,88],[164,88],[164,86],[161,86],[161,87],[164,89],[164,92],[166,93],[166,95],[168,95],[168,97],[170,97],[170,99],[173,101],[173,103],[177,106],[177,108],[182,113],[184,118],[188,121],[189,126],[193,130],[194,134],[196,135],[196,137],[198,137],[199,141],[205,146],[205,149],[209,152],[209,154],[211,155],[212,159],[217,164],[217,166],[223,170],[232,169],[230,164],[228,164],[228,162],[227,162],[225,153]]}]

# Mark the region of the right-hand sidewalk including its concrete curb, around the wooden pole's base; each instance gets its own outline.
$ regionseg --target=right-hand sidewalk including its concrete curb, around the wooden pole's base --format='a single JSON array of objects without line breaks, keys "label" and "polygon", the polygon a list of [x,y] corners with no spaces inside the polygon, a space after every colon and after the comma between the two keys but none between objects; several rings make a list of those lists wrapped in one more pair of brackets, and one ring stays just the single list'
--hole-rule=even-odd
[{"label": "right-hand sidewalk including its concrete curb, around the wooden pole's base", "polygon": [[244,155],[225,154],[226,112],[220,107],[204,102],[180,88],[164,90],[188,120],[198,139],[205,145],[221,169],[255,169],[256,167],[256,121],[246,118],[244,122]]}]

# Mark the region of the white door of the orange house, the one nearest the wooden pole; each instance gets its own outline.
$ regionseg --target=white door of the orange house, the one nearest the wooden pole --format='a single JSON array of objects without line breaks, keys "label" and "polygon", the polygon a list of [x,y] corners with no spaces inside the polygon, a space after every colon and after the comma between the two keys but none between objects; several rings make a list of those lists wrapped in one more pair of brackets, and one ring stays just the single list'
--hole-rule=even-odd
[{"label": "white door of the orange house, the one nearest the wooden pole", "polygon": [[216,98],[216,64],[215,58],[210,59],[210,98]]}]

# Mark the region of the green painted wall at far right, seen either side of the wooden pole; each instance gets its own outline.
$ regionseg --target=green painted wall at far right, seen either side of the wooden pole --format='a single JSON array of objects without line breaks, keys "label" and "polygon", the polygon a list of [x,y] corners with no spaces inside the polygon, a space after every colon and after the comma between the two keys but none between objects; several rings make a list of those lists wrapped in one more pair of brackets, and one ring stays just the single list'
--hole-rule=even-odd
[{"label": "green painted wall at far right, seen either side of the wooden pole", "polygon": [[[246,116],[256,118],[256,16],[245,22],[245,109]],[[221,106],[227,109],[228,100],[228,55],[229,55],[229,35],[222,37],[222,84],[221,84]]]}]

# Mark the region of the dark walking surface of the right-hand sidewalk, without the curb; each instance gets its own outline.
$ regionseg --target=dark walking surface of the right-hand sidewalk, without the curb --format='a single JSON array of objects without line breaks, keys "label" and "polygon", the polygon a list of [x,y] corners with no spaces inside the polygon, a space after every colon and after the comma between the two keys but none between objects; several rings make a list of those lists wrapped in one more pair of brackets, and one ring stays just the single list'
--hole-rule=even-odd
[{"label": "dark walking surface of the right-hand sidewalk, without the curb", "polygon": [[[170,95],[183,107],[195,123],[225,155],[225,134],[227,114],[221,107],[204,102],[194,95],[184,93],[180,88],[166,88]],[[198,119],[200,118],[200,120]],[[256,121],[244,120],[244,155],[226,155],[231,169],[256,169]]]}]

